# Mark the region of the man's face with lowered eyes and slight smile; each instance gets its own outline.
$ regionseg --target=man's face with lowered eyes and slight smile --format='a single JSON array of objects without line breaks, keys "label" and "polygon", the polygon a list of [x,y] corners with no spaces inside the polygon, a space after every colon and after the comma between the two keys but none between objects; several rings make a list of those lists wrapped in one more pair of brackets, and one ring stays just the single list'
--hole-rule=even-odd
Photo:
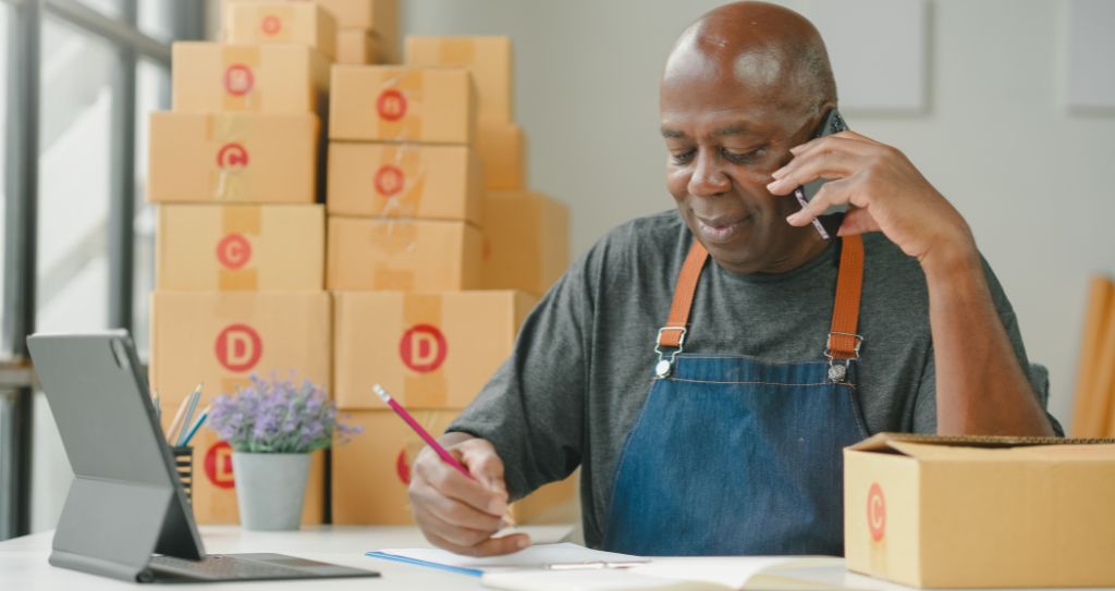
[{"label": "man's face with lowered eyes and slight smile", "polygon": [[721,267],[777,272],[818,239],[811,226],[786,223],[796,201],[772,195],[766,185],[789,162],[789,148],[812,137],[822,113],[777,80],[745,85],[731,69],[719,75],[721,68],[700,61],[671,62],[662,81],[667,188]]}]

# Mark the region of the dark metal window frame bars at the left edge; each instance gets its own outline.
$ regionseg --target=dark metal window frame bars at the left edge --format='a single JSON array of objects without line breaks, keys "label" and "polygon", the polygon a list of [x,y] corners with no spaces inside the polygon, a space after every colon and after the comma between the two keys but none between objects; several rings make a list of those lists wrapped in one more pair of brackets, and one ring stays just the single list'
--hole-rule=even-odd
[{"label": "dark metal window frame bars at the left edge", "polygon": [[[149,0],[146,0],[149,1]],[[118,17],[78,0],[0,0],[9,10],[4,134],[3,291],[0,306],[0,540],[30,532],[36,378],[27,352],[37,299],[40,51],[43,17],[58,18],[113,47],[113,106],[108,213],[108,321],[132,329],[135,301],[136,72],[140,59],[171,67],[171,42],[145,33],[139,0],[122,0]],[[203,39],[205,2],[167,0],[174,39]]]}]

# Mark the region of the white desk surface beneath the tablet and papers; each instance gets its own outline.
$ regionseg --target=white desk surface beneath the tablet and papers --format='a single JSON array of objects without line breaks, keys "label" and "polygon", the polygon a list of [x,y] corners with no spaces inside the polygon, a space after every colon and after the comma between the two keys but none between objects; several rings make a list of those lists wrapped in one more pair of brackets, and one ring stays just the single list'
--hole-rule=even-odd
[{"label": "white desk surface beneath the tablet and papers", "polygon": [[[539,543],[558,542],[569,532],[569,526],[531,526]],[[266,581],[221,583],[242,585],[245,589],[359,589],[361,591],[425,591],[482,589],[478,578],[443,572],[424,566],[371,559],[363,555],[369,550],[384,548],[419,548],[429,544],[416,527],[410,526],[306,526],[299,532],[245,532],[236,526],[202,526],[205,550],[214,554],[239,552],[278,552],[295,556],[332,562],[348,566],[379,571],[378,579],[331,579],[306,581]],[[43,532],[0,542],[0,590],[55,591],[80,589],[83,591],[135,589],[138,583],[125,583],[66,569],[47,562],[54,532]],[[805,573],[803,573],[803,577]],[[910,588],[878,579],[850,573],[843,568],[811,571],[808,579],[826,587],[867,591],[908,591]],[[214,583],[180,584],[177,589],[213,589]],[[261,587],[261,585],[266,585]],[[144,585],[152,589],[149,585]],[[164,588],[163,585],[158,587]],[[986,590],[985,590],[986,591]],[[1030,590],[1034,591],[1034,590]]]}]

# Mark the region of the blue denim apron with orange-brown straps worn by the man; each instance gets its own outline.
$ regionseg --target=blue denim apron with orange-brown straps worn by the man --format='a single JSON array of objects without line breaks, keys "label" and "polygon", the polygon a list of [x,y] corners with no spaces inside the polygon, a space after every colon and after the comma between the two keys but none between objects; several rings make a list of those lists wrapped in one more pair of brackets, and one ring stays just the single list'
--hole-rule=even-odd
[{"label": "blue denim apron with orange-brown straps worn by the man", "polygon": [[604,549],[639,555],[844,553],[843,447],[869,433],[855,394],[863,242],[843,239],[816,360],[682,353],[708,253],[682,265],[659,364],[615,472]]}]

